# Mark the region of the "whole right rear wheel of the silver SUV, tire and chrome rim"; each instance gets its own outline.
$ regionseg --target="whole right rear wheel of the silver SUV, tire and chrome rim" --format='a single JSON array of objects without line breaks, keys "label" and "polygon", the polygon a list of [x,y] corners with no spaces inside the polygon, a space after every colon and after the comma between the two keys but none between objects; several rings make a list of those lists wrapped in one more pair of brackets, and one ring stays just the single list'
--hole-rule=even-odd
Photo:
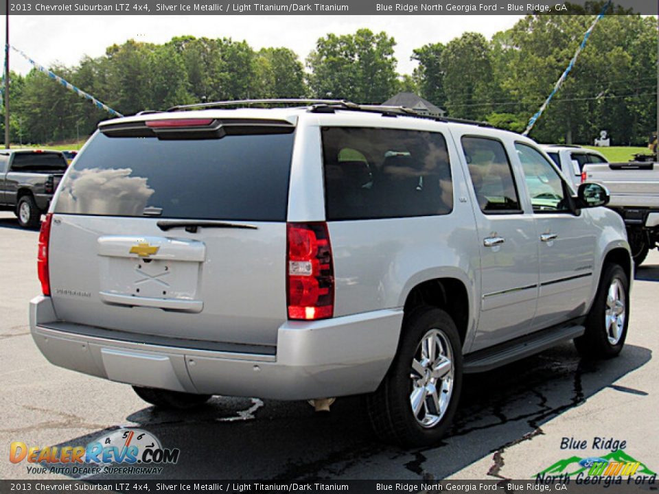
[{"label": "whole right rear wheel of the silver SUV, tire and chrome rim", "polygon": [[460,337],[443,310],[419,307],[403,322],[389,372],[367,397],[375,434],[406,447],[436,444],[455,413],[462,386]]}]

